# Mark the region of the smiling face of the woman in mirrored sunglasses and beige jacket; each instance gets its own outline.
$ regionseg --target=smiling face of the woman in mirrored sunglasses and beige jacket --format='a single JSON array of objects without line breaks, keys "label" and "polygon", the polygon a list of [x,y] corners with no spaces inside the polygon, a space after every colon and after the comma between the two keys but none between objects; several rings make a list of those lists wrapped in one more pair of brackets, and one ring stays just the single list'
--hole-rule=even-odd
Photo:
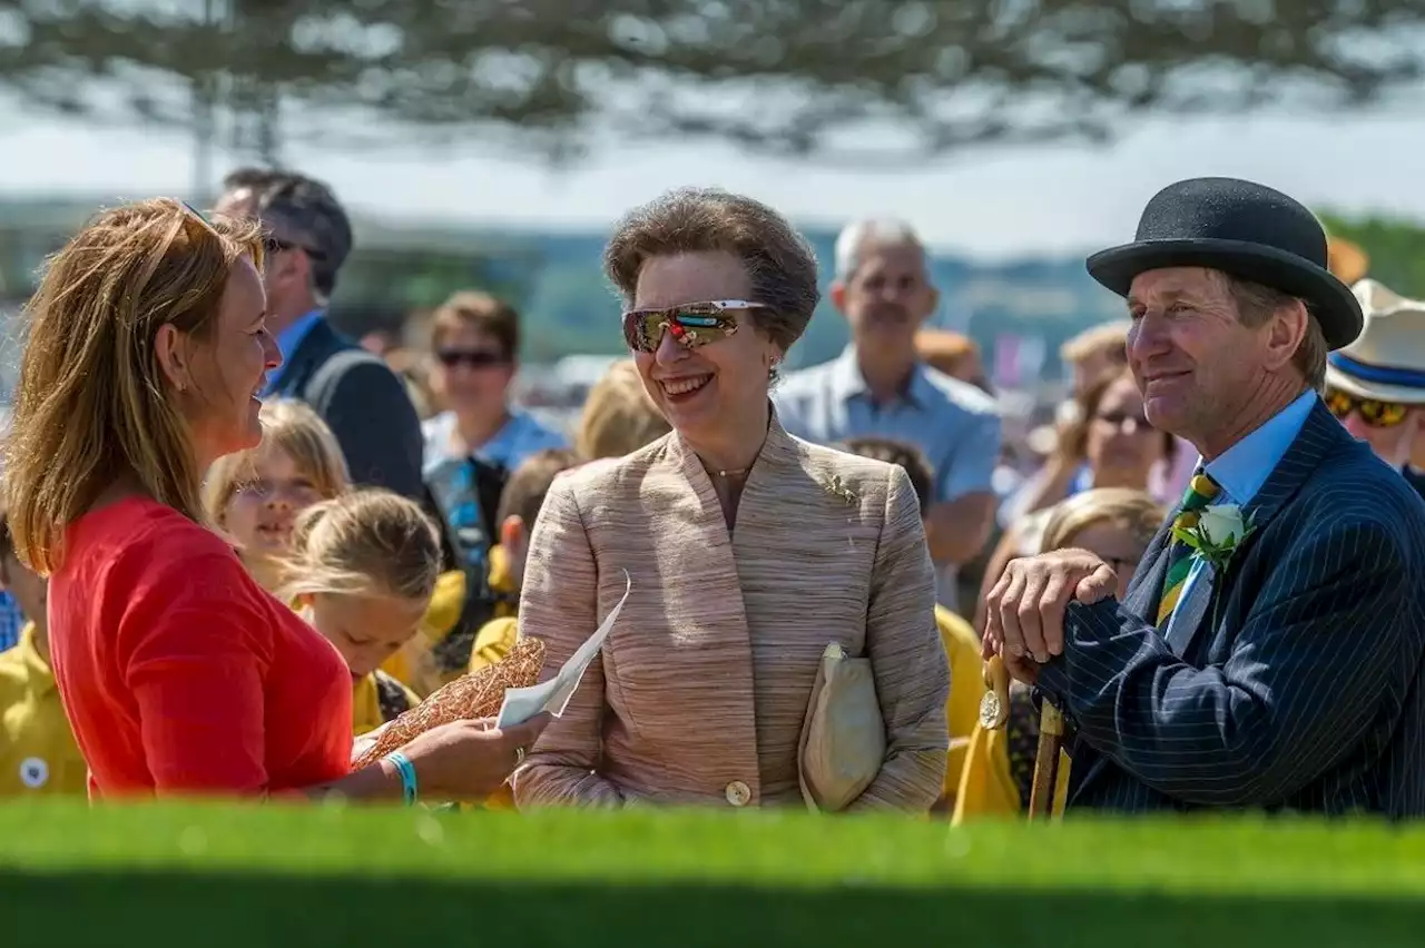
[{"label": "smiling face of the woman in mirrored sunglasses and beige jacket", "polygon": [[[678,253],[648,259],[638,272],[634,309],[670,309],[710,300],[750,300],[751,283],[731,253]],[[644,389],[681,434],[720,440],[738,420],[765,411],[768,372],[782,352],[752,322],[737,313],[737,332],[687,347],[664,332],[651,353],[634,352]]]}]

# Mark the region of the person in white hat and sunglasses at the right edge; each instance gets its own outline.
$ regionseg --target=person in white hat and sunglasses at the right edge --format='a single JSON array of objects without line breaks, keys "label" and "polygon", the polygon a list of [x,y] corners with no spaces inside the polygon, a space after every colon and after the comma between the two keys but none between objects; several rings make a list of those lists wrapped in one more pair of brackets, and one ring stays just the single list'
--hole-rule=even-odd
[{"label": "person in white hat and sunglasses at the right edge", "polygon": [[1327,407],[1377,457],[1425,495],[1425,471],[1411,455],[1425,447],[1425,302],[1375,280],[1354,288],[1365,329],[1327,356]]}]

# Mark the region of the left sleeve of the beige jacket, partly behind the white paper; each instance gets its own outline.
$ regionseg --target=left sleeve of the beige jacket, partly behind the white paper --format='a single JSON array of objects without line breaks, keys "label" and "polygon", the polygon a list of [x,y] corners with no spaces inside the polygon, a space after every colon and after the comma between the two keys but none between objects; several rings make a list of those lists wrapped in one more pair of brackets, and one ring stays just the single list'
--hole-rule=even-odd
[{"label": "left sleeve of the beige jacket, partly behind the white paper", "polygon": [[[542,680],[553,678],[598,628],[598,568],[583,515],[567,484],[550,487],[530,537],[520,635],[544,642]],[[584,670],[564,715],[540,734],[514,779],[514,801],[540,806],[623,804],[623,794],[598,774],[603,752],[604,662]]]}]

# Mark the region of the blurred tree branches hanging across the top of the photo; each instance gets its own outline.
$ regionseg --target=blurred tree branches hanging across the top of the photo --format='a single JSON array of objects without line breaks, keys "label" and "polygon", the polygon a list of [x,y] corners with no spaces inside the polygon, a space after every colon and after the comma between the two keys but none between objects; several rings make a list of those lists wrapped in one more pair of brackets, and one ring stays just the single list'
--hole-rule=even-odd
[{"label": "blurred tree branches hanging across the top of the photo", "polygon": [[[194,102],[328,144],[613,134],[886,164],[1102,139],[1147,108],[1317,111],[1421,78],[1425,0],[0,0],[0,87],[98,120]],[[191,9],[190,9],[191,7]],[[380,121],[373,121],[380,120]],[[888,130],[896,130],[888,132]],[[903,132],[901,131],[903,130]]]}]

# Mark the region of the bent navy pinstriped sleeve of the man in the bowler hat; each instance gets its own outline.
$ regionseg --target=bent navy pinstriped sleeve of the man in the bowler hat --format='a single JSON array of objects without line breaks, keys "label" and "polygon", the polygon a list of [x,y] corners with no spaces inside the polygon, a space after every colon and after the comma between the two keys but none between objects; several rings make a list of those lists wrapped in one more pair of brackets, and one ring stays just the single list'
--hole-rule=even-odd
[{"label": "bent navy pinstriped sleeve of the man in the bowler hat", "polygon": [[1079,734],[1184,803],[1270,806],[1357,753],[1399,676],[1414,584],[1381,524],[1325,524],[1287,554],[1224,665],[1178,659],[1113,601],[1070,604],[1040,669]]}]

